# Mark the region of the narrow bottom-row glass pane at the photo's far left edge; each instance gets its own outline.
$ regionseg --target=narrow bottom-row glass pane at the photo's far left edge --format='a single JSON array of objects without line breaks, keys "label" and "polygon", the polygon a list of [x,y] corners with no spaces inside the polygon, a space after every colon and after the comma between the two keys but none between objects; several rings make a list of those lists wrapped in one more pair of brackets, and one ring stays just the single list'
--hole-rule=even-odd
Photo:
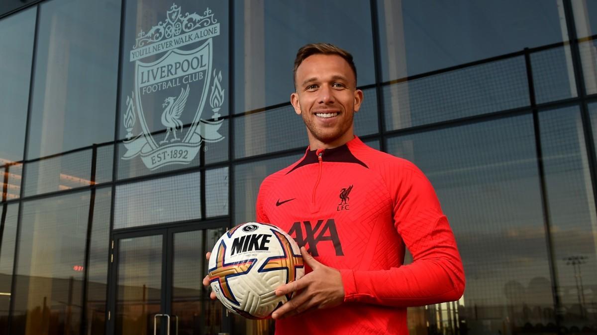
[{"label": "narrow bottom-row glass pane at the photo's far left edge", "polygon": [[0,329],[8,329],[19,204],[4,204],[0,215]]}]

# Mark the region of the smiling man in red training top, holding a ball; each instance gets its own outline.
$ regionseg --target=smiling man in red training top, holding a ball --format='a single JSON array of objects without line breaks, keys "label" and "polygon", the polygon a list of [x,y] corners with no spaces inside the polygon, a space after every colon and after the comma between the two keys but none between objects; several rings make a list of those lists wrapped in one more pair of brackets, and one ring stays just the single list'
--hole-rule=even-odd
[{"label": "smiling man in red training top, holding a ball", "polygon": [[[464,290],[435,191],[412,163],[353,134],[363,92],[352,55],[303,46],[294,85],[309,148],[263,181],[256,204],[257,221],[288,231],[306,263],[303,278],[276,290],[294,293],[272,314],[276,333],[408,334],[408,306],[457,300]],[[403,266],[405,246],[413,263]]]}]

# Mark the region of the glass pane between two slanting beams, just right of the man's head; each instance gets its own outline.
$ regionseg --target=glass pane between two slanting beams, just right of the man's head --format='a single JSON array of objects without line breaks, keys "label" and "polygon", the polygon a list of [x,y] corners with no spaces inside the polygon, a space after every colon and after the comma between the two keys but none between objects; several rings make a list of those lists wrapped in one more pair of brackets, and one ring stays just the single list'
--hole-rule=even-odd
[{"label": "glass pane between two slanting beams, just right of the man's head", "polygon": [[507,58],[383,87],[386,129],[527,106],[524,57]]}]

